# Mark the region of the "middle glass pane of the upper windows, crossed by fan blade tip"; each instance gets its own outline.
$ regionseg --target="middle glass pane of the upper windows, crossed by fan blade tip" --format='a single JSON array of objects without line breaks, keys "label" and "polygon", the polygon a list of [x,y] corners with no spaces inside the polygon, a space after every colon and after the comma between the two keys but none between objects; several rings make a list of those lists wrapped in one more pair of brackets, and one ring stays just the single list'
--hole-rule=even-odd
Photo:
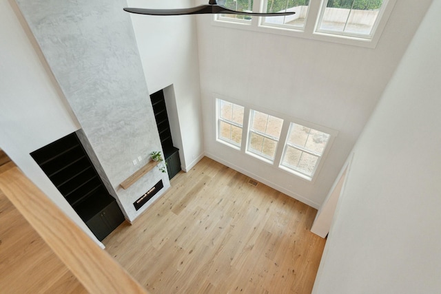
[{"label": "middle glass pane of the upper windows, crossed by fan blade tip", "polygon": [[309,0],[267,0],[266,12],[296,12],[283,17],[265,17],[264,25],[302,29],[308,13]]}]

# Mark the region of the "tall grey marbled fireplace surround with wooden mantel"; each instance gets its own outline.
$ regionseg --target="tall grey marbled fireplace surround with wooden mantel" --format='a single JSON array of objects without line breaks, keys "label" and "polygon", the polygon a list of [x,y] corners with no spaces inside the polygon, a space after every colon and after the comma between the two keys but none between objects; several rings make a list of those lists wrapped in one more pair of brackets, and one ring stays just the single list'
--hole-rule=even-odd
[{"label": "tall grey marbled fireplace surround with wooden mantel", "polygon": [[[132,222],[170,181],[152,169],[129,189],[119,186],[150,160],[151,151],[161,151],[132,21],[123,11],[127,2],[16,1],[81,124],[79,138]],[[133,202],[161,179],[163,189],[136,211]]]}]

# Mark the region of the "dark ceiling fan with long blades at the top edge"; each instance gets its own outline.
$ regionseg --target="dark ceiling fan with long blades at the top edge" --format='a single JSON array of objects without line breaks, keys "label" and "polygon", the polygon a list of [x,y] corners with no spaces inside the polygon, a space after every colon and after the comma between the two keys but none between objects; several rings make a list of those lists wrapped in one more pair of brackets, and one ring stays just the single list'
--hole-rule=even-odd
[{"label": "dark ceiling fan with long blades at the top edge", "polygon": [[[225,3],[225,0],[223,0]],[[145,9],[145,8],[124,8],[125,11],[136,14],[147,15],[185,15],[185,14],[241,14],[241,15],[253,15],[256,17],[280,17],[283,15],[292,15],[296,12],[271,12],[271,13],[258,13],[258,12],[242,12],[231,10],[225,6],[218,5],[217,0],[209,0],[208,4],[196,6],[192,8],[180,8],[180,9]]]}]

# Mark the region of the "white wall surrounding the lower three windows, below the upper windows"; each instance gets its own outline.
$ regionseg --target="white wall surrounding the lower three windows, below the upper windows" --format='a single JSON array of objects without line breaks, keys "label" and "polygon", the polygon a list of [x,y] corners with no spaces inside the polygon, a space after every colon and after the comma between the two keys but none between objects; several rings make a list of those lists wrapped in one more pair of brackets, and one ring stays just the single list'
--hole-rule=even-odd
[{"label": "white wall surrounding the lower three windows, below the upper windows", "polygon": [[[224,28],[212,25],[212,16],[198,17],[206,154],[319,207],[430,2],[397,1],[375,49]],[[216,143],[215,94],[337,130],[316,181]]]}]

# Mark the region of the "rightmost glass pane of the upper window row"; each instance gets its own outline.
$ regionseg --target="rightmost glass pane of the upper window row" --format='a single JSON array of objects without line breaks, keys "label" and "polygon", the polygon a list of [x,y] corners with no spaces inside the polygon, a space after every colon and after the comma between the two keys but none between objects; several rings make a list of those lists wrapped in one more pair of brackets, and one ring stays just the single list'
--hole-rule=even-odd
[{"label": "rightmost glass pane of the upper window row", "polygon": [[370,35],[383,0],[328,0],[319,31]]}]

